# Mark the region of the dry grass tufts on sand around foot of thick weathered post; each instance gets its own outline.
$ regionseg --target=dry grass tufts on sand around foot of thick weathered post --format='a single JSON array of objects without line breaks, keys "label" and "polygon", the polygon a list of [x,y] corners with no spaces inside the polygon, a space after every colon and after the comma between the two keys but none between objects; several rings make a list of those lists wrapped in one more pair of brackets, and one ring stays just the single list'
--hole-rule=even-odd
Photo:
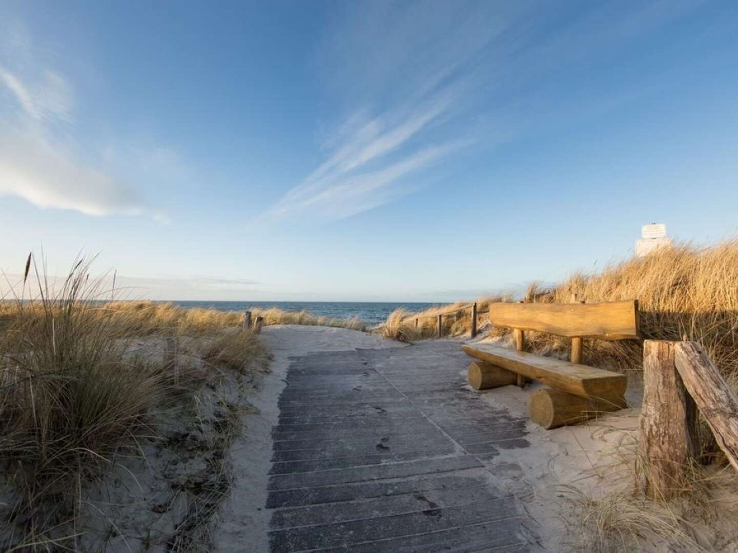
[{"label": "dry grass tufts on sand around foot of thick weathered post", "polygon": [[738,477],[731,467],[691,462],[670,490],[675,495],[649,498],[644,495],[648,459],[637,429],[593,428],[623,435],[611,453],[613,465],[597,471],[602,482],[610,480],[607,487],[586,492],[575,485],[562,487],[576,509],[577,522],[569,532],[574,551],[732,551],[725,547],[738,543]]}]

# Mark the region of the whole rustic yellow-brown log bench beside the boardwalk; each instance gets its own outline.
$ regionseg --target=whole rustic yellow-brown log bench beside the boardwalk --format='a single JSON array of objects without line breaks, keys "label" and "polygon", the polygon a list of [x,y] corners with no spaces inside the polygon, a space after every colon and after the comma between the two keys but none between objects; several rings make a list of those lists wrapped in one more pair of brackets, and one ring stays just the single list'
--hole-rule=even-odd
[{"label": "whole rustic yellow-brown log bench beside the boardwalk", "polygon": [[[551,386],[531,394],[531,419],[544,428],[577,424],[601,411],[625,406],[627,378],[618,372],[582,365],[582,338],[627,340],[638,338],[638,301],[599,304],[494,303],[489,321],[514,330],[516,349],[490,344],[464,344],[469,384],[477,390],[516,384],[526,378]],[[525,331],[571,338],[570,361],[523,351]]]}]

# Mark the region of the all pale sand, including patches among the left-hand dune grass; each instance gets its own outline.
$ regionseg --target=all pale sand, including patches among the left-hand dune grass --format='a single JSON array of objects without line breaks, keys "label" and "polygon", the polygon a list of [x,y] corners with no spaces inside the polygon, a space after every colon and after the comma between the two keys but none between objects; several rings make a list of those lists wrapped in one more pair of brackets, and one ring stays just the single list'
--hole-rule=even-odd
[{"label": "all pale sand, including patches among the left-hand dune grass", "polygon": [[[272,427],[277,424],[277,399],[285,386],[284,378],[291,358],[311,352],[402,346],[376,335],[341,328],[283,325],[265,327],[262,334],[273,355],[269,372],[253,382],[246,394],[236,394],[235,384],[226,380],[212,393],[200,394],[197,400],[202,420],[213,417],[218,401],[223,397],[241,402],[244,407],[248,403],[253,408],[251,412],[244,411],[241,417],[243,435],[232,442],[227,456],[233,477],[230,497],[208,525],[207,539],[218,551],[269,551],[270,513],[265,505],[272,466],[271,434]],[[464,340],[449,341],[456,341],[461,346]],[[422,349],[418,348],[417,359],[413,358],[413,351],[413,348],[407,350],[409,362],[422,364]],[[449,358],[449,363],[452,362],[459,364],[461,374],[465,369],[463,364]],[[632,468],[627,466],[629,461],[622,453],[627,453],[635,444],[641,391],[639,378],[629,380],[627,399],[633,408],[607,414],[584,425],[552,431],[527,422],[525,439],[530,445],[502,450],[495,459],[500,467],[517,467],[510,472],[501,470],[498,476],[495,475],[499,479],[496,484],[523,501],[528,514],[537,522],[536,533],[542,550],[569,551],[576,546],[580,539],[577,530],[580,525],[577,502],[573,499],[577,493],[598,498],[611,490],[632,489]],[[506,386],[484,392],[469,389],[469,393],[482,394],[483,401],[489,406],[503,407],[514,417],[527,418],[528,396],[539,388],[540,385],[534,383],[525,389]],[[176,431],[176,424],[173,426],[173,431]],[[145,453],[148,453],[147,462],[121,462],[100,490],[90,496],[91,509],[100,512],[92,516],[89,526],[97,527],[97,536],[86,538],[86,546],[94,549],[95,544],[100,543],[100,535],[115,524],[120,534],[128,538],[121,535],[105,538],[107,550],[135,551],[145,546],[142,536],[147,529],[153,528],[154,535],[157,532],[163,535],[170,531],[167,528],[181,520],[182,512],[187,509],[182,501],[174,501],[161,514],[151,509],[170,493],[170,484],[157,475],[170,468],[172,457],[156,448],[147,447]],[[187,474],[199,470],[199,465],[203,464],[203,459],[198,456],[184,460],[180,457],[176,461],[179,465],[169,470],[169,481],[187,478]],[[165,544],[151,548],[154,551],[165,549]]]}]

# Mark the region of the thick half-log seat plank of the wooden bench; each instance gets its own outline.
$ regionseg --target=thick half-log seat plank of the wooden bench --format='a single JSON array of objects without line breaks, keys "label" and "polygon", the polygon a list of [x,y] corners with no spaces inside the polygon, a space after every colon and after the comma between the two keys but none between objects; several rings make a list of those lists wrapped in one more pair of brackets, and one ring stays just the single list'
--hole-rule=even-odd
[{"label": "thick half-log seat plank of the wooden bench", "polygon": [[461,347],[467,355],[481,361],[587,399],[615,400],[623,396],[627,386],[625,375],[593,366],[577,365],[491,344],[463,344]]}]

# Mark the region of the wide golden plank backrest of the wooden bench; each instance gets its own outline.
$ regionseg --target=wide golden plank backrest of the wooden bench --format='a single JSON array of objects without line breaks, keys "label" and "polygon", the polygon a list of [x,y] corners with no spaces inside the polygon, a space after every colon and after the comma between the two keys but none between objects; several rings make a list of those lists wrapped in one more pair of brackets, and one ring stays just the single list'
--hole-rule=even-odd
[{"label": "wide golden plank backrest of the wooden bench", "polygon": [[498,327],[569,338],[639,338],[637,299],[609,303],[492,303],[489,321]]}]

